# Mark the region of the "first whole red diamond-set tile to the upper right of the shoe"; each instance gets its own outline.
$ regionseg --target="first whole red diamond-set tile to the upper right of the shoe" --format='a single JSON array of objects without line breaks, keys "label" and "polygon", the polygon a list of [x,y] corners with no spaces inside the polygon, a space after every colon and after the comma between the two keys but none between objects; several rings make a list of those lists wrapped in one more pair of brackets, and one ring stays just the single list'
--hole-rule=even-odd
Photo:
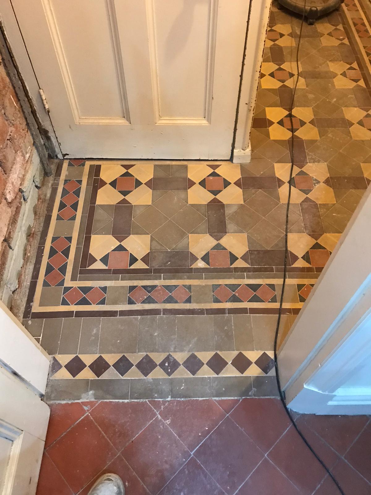
[{"label": "first whole red diamond-set tile to the upper right of the shoe", "polygon": [[170,428],[156,418],[124,448],[122,455],[146,488],[157,494],[190,453]]}]

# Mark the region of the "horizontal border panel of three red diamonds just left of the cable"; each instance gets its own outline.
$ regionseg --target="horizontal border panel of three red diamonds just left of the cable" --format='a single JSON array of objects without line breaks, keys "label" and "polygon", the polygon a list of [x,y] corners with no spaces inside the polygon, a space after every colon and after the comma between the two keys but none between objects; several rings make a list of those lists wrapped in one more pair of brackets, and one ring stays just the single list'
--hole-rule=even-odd
[{"label": "horizontal border panel of three red diamonds just left of the cable", "polygon": [[213,284],[214,302],[277,302],[275,284]]}]

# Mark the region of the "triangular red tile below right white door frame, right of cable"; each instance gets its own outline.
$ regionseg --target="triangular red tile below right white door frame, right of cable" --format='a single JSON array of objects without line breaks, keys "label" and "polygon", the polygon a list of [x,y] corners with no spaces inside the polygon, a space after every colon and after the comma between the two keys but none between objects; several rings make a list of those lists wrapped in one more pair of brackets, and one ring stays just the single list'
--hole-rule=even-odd
[{"label": "triangular red tile below right white door frame, right of cable", "polygon": [[318,433],[325,442],[344,455],[363,428],[367,425],[368,416],[302,416],[306,425]]}]

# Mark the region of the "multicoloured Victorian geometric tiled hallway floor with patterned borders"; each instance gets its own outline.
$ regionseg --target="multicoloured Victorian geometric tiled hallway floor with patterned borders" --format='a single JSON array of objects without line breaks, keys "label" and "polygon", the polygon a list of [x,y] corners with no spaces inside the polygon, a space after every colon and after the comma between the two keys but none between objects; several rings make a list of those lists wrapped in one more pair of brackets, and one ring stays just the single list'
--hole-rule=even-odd
[{"label": "multicoloured Victorian geometric tiled hallway floor with patterned borders", "polygon": [[[303,28],[280,342],[371,181],[371,31],[360,9],[347,0]],[[299,26],[273,7],[251,163],[58,167],[24,314],[54,355],[50,400],[276,394]]]}]

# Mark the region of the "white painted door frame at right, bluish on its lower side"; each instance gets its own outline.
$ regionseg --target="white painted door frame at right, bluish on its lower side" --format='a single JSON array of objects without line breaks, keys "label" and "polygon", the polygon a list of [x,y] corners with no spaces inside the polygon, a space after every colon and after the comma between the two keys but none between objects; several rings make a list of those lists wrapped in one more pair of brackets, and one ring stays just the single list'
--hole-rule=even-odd
[{"label": "white painted door frame at right, bluish on its lower side", "polygon": [[299,412],[371,413],[370,226],[371,186],[279,349],[286,402]]}]

